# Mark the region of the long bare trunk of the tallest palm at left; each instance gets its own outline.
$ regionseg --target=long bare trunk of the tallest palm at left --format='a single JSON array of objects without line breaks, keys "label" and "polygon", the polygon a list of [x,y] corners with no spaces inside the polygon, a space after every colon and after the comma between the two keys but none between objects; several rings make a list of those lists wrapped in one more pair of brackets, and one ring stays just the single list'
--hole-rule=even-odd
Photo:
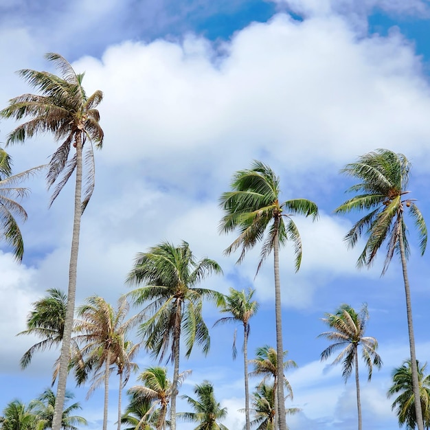
[{"label": "long bare trunk of the tallest palm at left", "polygon": [[71,331],[73,329],[73,317],[76,300],[76,273],[78,268],[78,249],[80,233],[81,193],[82,193],[82,134],[76,135],[76,185],[75,205],[73,216],[73,233],[71,236],[71,251],[69,262],[69,287],[67,289],[67,308],[64,325],[63,343],[61,344],[60,370],[58,372],[58,385],[52,430],[60,430],[63,417],[63,407],[66,393],[67,374],[69,372]]}]

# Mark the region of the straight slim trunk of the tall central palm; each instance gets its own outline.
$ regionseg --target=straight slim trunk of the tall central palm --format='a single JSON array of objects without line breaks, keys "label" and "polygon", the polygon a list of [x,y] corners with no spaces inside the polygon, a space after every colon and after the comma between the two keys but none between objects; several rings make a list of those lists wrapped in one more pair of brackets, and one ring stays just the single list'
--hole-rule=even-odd
[{"label": "straight slim trunk of the tall central palm", "polygon": [[[278,220],[279,225],[279,220]],[[282,344],[282,306],[281,306],[281,282],[279,274],[279,234],[278,226],[273,240],[273,260],[275,272],[275,315],[276,315],[276,355],[278,365],[278,422],[280,430],[286,429],[285,396],[284,396],[284,346]]]}]

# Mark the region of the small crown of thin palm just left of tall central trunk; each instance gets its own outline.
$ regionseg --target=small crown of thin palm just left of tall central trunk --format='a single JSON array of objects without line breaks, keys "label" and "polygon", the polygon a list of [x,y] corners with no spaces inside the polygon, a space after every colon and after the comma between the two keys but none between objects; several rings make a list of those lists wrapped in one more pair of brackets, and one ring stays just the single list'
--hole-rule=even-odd
[{"label": "small crown of thin palm just left of tall central trunk", "polygon": [[[214,326],[218,324],[237,323],[240,322],[245,327],[246,335],[249,335],[249,319],[256,315],[258,310],[258,302],[252,300],[252,296],[256,291],[249,288],[247,291],[238,291],[234,288],[229,288],[229,294],[225,296],[225,303],[221,305],[220,313],[229,313],[230,317],[223,317],[215,321]],[[236,332],[234,333],[233,341],[233,358],[236,359]]]}]

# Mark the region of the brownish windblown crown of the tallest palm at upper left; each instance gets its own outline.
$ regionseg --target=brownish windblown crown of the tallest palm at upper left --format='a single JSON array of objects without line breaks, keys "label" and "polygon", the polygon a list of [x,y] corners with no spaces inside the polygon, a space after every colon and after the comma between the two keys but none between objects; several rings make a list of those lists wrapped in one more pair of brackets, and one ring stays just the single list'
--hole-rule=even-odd
[{"label": "brownish windblown crown of the tallest palm at upper left", "polygon": [[76,137],[82,136],[87,145],[86,164],[87,188],[82,200],[82,212],[87,206],[94,185],[92,143],[102,147],[104,133],[100,127],[100,114],[96,106],[102,101],[102,91],[95,91],[87,96],[82,87],[84,73],[77,74],[71,65],[59,54],[49,53],[45,58],[52,61],[60,71],[58,77],[47,71],[31,69],[20,70],[19,76],[39,91],[40,94],[23,94],[9,101],[9,106],[0,111],[0,117],[30,120],[17,126],[6,140],[9,144],[23,143],[27,138],[41,133],[52,133],[60,146],[49,161],[47,172],[48,187],[51,187],[60,174],[56,190],[52,194],[51,203],[76,168],[76,156],[69,159],[71,144],[76,145]]}]

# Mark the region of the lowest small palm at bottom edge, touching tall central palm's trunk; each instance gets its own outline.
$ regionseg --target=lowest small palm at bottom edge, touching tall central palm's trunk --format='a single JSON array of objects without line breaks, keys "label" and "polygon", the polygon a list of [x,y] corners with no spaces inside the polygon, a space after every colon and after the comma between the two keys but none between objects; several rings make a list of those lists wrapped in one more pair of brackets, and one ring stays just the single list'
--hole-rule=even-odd
[{"label": "lowest small palm at bottom edge, touching tall central palm's trunk", "polygon": [[[251,411],[254,414],[251,427],[255,427],[256,430],[275,430],[275,388],[273,385],[262,383],[256,389],[257,391],[252,394],[251,400]],[[289,394],[286,398],[288,397]],[[293,415],[300,410],[297,407],[289,407],[285,411],[287,415]]]}]

